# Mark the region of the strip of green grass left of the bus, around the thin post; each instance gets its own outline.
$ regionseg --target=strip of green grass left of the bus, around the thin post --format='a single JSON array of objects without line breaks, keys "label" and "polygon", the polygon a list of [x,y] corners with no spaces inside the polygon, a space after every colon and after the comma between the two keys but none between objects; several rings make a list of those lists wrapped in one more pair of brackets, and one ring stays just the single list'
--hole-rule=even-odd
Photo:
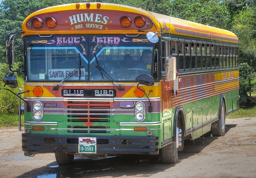
[{"label": "strip of green grass left of the bus, around the thin post", "polygon": [[[23,126],[24,115],[21,115],[21,125]],[[16,127],[19,126],[18,115],[3,114],[0,116],[0,127]]]}]

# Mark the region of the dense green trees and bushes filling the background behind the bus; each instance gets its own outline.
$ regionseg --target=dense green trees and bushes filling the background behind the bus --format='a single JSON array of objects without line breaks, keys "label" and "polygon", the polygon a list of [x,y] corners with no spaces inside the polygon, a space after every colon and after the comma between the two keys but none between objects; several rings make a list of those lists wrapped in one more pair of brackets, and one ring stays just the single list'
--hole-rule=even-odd
[{"label": "dense green trees and bushes filling the background behind the bus", "polygon": [[[8,71],[5,64],[5,41],[8,32],[21,31],[23,20],[32,12],[59,4],[91,2],[88,0],[2,0],[0,4],[0,76]],[[255,0],[99,0],[143,8],[234,32],[240,40],[240,88],[256,90],[256,1]],[[15,36],[15,68],[22,70],[22,39]],[[19,76],[19,87],[22,87]],[[251,85],[251,86],[250,86]],[[0,115],[16,113],[18,98],[3,90],[0,83]],[[14,92],[16,89],[14,90]],[[16,91],[17,92],[17,91]],[[8,99],[11,98],[11,99]],[[14,99],[15,98],[15,99]],[[13,102],[13,103],[12,103]]]}]

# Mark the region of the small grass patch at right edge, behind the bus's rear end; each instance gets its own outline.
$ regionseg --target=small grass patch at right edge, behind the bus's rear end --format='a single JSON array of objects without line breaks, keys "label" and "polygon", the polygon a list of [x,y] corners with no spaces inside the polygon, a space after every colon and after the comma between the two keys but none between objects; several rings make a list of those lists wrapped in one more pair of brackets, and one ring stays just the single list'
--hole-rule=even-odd
[{"label": "small grass patch at right edge, behind the bus's rear end", "polygon": [[228,115],[227,119],[236,119],[236,118],[251,118],[256,116],[256,106],[248,108],[240,108],[240,110],[233,112]]}]

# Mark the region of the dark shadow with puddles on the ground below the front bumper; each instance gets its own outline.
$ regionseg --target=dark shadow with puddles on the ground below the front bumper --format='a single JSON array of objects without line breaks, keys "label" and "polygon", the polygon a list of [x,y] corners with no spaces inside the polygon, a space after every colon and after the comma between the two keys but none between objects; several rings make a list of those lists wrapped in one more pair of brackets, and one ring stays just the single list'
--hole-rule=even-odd
[{"label": "dark shadow with puddles on the ground below the front bumper", "polygon": [[[31,175],[37,178],[89,178],[102,177],[102,175],[119,177],[119,175],[114,176],[114,174],[117,172],[117,174],[121,173],[123,175],[132,175],[133,173],[136,175],[141,170],[148,170],[147,165],[157,163],[159,164],[159,160],[154,156],[113,156],[97,161],[83,157],[75,157],[70,165],[57,165],[56,162],[52,162],[48,166],[41,167],[38,170],[31,170],[19,177],[31,177]],[[131,173],[131,170],[133,173]]]}]

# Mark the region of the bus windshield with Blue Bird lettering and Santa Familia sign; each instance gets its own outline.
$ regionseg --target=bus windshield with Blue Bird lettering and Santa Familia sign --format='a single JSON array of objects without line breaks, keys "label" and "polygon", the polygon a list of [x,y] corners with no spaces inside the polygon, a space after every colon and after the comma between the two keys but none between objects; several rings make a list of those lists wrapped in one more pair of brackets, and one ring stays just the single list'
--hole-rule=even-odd
[{"label": "bus windshield with Blue Bird lettering and Santa Familia sign", "polygon": [[56,35],[28,36],[27,80],[41,82],[134,81],[138,75],[154,75],[155,46],[146,36]]}]

